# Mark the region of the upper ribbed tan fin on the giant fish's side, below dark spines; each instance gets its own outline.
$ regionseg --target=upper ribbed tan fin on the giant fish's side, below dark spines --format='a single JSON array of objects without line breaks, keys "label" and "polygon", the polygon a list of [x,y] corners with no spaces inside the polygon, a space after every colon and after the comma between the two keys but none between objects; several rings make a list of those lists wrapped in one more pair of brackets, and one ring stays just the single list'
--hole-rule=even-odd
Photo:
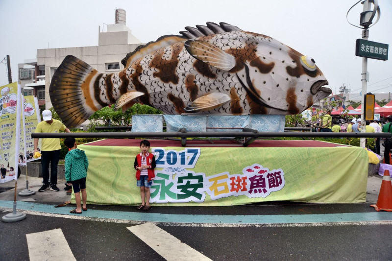
[{"label": "upper ribbed tan fin on the giant fish's side, below dark spines", "polygon": [[233,55],[228,54],[220,47],[216,47],[209,42],[188,40],[184,45],[193,57],[212,67],[230,71],[236,65],[236,59]]}]

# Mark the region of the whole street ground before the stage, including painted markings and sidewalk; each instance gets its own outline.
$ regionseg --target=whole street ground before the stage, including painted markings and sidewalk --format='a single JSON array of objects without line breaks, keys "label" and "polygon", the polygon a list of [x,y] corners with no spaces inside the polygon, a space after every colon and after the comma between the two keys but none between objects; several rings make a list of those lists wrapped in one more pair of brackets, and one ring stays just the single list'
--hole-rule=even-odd
[{"label": "whole street ground before the stage, including painted markings and sidewalk", "polygon": [[[38,190],[41,179],[29,181]],[[366,203],[153,206],[147,213],[88,205],[77,215],[69,213],[74,205],[54,208],[69,200],[64,190],[18,195],[26,218],[0,222],[0,260],[391,260],[392,213],[369,207],[381,181],[368,178]],[[13,195],[0,193],[1,216],[12,212]]]}]

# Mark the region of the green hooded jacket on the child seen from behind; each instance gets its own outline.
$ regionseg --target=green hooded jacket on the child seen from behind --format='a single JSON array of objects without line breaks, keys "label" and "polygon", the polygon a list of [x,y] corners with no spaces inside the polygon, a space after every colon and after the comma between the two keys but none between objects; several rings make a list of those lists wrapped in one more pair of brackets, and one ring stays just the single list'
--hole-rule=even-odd
[{"label": "green hooded jacket on the child seen from behind", "polygon": [[85,178],[89,160],[83,150],[72,149],[65,156],[65,179],[67,182]]}]

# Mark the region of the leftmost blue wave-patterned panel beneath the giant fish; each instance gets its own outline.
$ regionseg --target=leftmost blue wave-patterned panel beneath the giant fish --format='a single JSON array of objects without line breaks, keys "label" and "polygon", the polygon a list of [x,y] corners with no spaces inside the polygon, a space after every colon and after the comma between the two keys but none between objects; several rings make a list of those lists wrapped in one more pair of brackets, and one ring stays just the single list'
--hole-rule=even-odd
[{"label": "leftmost blue wave-patterned panel beneath the giant fish", "polygon": [[162,115],[132,115],[132,132],[163,132]]}]

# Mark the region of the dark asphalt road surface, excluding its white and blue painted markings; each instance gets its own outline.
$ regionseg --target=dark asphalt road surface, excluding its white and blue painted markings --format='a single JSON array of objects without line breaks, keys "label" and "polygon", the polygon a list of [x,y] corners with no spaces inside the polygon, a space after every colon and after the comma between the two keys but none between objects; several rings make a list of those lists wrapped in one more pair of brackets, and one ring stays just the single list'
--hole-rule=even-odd
[{"label": "dark asphalt road surface, excluding its white and blue painted markings", "polygon": [[[102,211],[96,206],[87,212]],[[197,216],[268,215],[290,220],[295,215],[304,218],[311,215],[374,214],[368,204],[271,204],[237,207],[178,208],[155,207],[151,213],[137,213],[134,208],[123,206],[112,210],[131,214],[172,214]],[[154,212],[152,212],[154,211]],[[366,222],[309,222],[265,224],[181,224],[176,222],[154,222],[181,242],[211,260],[391,260],[392,214],[379,213],[380,218]],[[381,218],[383,216],[384,218]],[[49,216],[27,214],[24,220],[0,223],[0,260],[29,260],[26,234],[61,229],[76,260],[165,260],[155,249],[158,244],[148,245],[128,227],[139,226],[124,220],[82,219],[70,215]],[[219,219],[219,218],[218,218]],[[387,219],[389,221],[383,221]],[[146,231],[147,234],[150,231]],[[163,243],[163,242],[162,242]],[[173,243],[174,244],[174,243]],[[50,242],[43,241],[50,250]],[[60,249],[58,249],[60,250]],[[45,260],[45,251],[38,254]],[[53,259],[51,259],[53,260]],[[186,252],[173,252],[172,259],[189,260]]]}]

